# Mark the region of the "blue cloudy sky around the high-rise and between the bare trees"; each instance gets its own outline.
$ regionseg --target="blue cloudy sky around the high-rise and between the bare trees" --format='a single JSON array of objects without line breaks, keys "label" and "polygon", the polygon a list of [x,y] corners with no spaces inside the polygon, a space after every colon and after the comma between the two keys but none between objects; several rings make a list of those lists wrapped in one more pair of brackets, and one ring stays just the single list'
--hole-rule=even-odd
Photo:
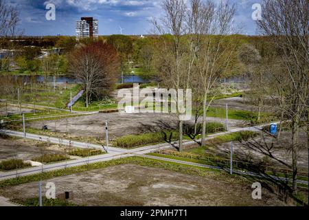
[{"label": "blue cloudy sky around the high-rise and between the bare trees", "polygon": [[[160,17],[162,0],[6,0],[20,12],[19,28],[25,35],[75,35],[75,21],[80,17],[99,19],[99,34],[151,34],[149,19]],[[214,0],[226,1],[226,0]],[[237,4],[235,27],[242,34],[257,34],[251,19],[253,3],[262,0],[230,0]],[[56,21],[47,21],[47,3],[56,5]]]}]

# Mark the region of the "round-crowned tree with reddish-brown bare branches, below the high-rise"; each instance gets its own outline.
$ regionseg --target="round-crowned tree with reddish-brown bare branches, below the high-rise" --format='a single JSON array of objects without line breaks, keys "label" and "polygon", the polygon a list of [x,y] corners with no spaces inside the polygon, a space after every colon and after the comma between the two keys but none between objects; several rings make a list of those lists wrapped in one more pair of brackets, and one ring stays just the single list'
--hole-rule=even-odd
[{"label": "round-crowned tree with reddish-brown bare branches, below the high-rise", "polygon": [[92,96],[108,94],[117,78],[119,60],[111,45],[101,41],[77,49],[69,56],[69,70],[86,91],[86,107]]}]

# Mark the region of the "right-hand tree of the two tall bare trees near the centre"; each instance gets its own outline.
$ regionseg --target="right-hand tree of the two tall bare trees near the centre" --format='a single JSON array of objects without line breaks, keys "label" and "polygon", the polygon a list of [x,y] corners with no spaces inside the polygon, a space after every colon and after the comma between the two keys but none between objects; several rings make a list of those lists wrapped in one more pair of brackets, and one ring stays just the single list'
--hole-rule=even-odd
[{"label": "right-hand tree of the two tall bare trees near the centre", "polygon": [[201,80],[203,90],[203,131],[202,145],[206,137],[206,113],[215,95],[209,101],[220,76],[227,72],[236,51],[236,41],[228,34],[231,32],[231,22],[236,12],[236,6],[229,1],[218,5],[212,0],[191,0],[191,10],[187,26],[191,36],[191,52],[194,54],[191,69],[195,77]]}]

